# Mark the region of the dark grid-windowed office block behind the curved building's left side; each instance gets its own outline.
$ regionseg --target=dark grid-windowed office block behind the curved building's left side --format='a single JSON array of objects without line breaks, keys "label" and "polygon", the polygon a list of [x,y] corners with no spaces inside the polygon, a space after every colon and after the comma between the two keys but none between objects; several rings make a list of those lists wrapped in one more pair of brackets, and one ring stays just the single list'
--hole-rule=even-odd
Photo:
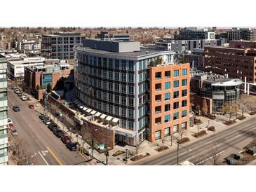
[{"label": "dark grid-windowed office block behind the curved building's left side", "polygon": [[84,38],[80,33],[68,32],[43,35],[41,55],[47,59],[74,59],[73,47],[80,45]]}]

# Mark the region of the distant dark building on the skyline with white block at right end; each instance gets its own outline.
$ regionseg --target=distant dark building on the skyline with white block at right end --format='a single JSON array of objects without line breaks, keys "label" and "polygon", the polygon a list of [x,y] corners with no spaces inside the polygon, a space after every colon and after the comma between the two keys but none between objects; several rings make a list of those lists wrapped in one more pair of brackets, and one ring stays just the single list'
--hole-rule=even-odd
[{"label": "distant dark building on the skyline with white block at right end", "polygon": [[196,27],[185,27],[180,29],[174,35],[174,40],[213,40],[215,39],[215,32],[209,32],[208,29],[198,29]]}]

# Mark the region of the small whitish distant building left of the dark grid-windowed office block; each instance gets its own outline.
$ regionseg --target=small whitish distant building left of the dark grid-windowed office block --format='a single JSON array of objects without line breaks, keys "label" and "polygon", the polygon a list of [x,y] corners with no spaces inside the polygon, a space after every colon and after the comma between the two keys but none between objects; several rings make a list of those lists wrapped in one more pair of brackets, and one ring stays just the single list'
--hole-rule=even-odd
[{"label": "small whitish distant building left of the dark grid-windowed office block", "polygon": [[39,55],[41,53],[41,43],[36,41],[17,41],[15,48],[19,53],[25,53],[27,55]]}]

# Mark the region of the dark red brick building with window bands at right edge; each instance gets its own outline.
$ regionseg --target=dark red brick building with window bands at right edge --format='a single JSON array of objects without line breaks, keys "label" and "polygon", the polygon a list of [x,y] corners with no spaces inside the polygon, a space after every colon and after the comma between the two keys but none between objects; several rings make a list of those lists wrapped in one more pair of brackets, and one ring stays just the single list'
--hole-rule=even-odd
[{"label": "dark red brick building with window bands at right edge", "polygon": [[256,42],[236,41],[229,47],[205,47],[204,71],[256,83],[256,49],[251,48],[255,45]]}]

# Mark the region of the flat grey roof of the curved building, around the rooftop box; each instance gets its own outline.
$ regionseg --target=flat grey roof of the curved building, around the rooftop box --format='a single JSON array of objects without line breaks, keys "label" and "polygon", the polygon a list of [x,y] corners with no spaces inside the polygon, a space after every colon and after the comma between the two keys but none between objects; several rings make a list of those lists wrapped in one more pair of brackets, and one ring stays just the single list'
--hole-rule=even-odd
[{"label": "flat grey roof of the curved building, around the rooftop box", "polygon": [[159,51],[159,50],[153,50],[153,49],[146,49],[146,48],[140,48],[140,51],[134,51],[134,52],[126,52],[126,53],[115,53],[105,50],[98,50],[98,49],[92,49],[92,48],[86,48],[83,46],[76,46],[76,50],[81,50],[86,53],[92,53],[92,54],[100,54],[100,55],[107,55],[107,56],[121,56],[121,57],[145,57],[150,55],[161,55],[163,53],[174,53],[173,51]]}]

